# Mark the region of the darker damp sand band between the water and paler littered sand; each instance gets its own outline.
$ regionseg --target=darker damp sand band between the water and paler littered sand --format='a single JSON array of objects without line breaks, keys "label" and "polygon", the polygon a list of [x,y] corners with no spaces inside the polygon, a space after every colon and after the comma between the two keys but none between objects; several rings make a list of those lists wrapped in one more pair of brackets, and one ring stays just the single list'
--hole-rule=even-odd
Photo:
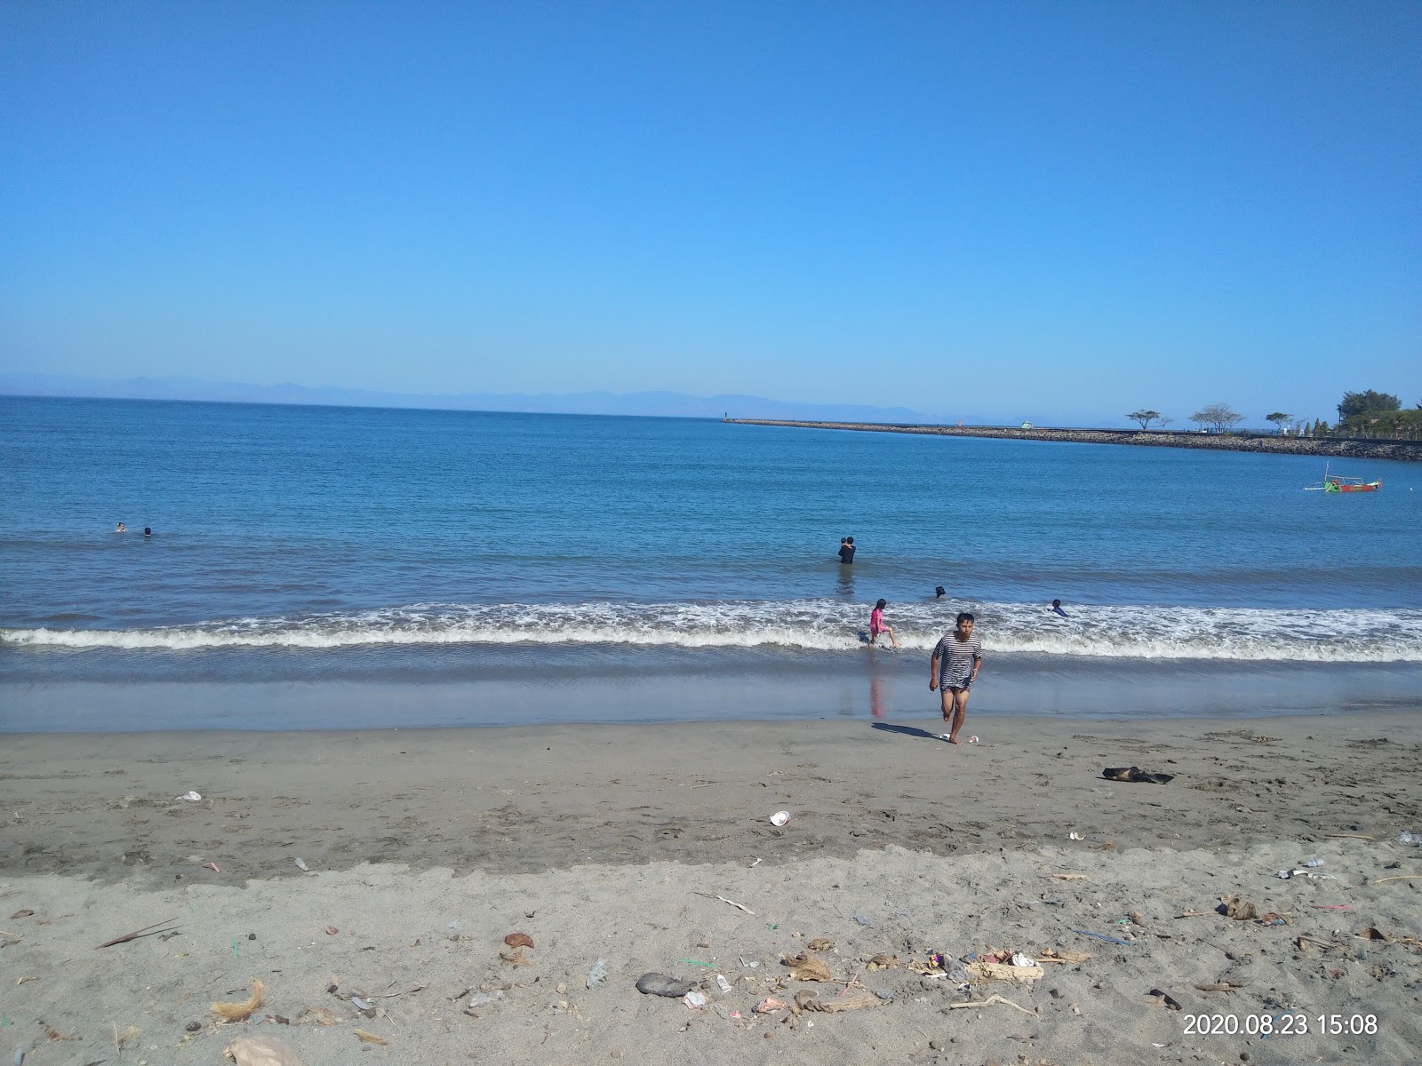
[{"label": "darker damp sand band between the water and paler littered sand", "polygon": [[[981,743],[951,748],[940,731],[937,718],[899,718],[13,733],[0,796],[20,817],[0,830],[0,873],[161,883],[193,874],[185,857],[202,839],[225,870],[266,877],[297,873],[287,849],[311,868],[528,873],[609,857],[724,861],[747,840],[784,841],[768,861],[887,844],[951,854],[1057,843],[1092,823],[1130,847],[1422,829],[1416,708],[1246,721],[970,709],[964,738]],[[1179,780],[1118,785],[1101,777],[1108,765]],[[203,800],[173,800],[189,789]],[[941,807],[947,796],[973,797],[971,822]],[[1338,804],[1369,796],[1392,802]],[[793,833],[765,822],[781,807]],[[518,836],[523,823],[553,840]],[[256,827],[260,839],[246,836]],[[122,858],[135,847],[146,857]]]}]

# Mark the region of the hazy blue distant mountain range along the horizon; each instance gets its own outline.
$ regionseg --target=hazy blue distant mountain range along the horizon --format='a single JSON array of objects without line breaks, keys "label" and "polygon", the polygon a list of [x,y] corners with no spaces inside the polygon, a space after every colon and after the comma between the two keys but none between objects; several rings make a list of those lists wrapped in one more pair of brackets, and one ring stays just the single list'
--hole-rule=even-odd
[{"label": "hazy blue distant mountain range along the horizon", "polygon": [[566,415],[653,415],[664,418],[789,418],[829,422],[947,422],[941,415],[866,404],[792,404],[764,397],[691,397],[683,392],[374,392],[361,388],[249,385],[195,378],[78,378],[60,374],[0,374],[0,395],[92,397],[100,399],[195,399],[229,404],[310,404],[439,411],[528,411]]}]

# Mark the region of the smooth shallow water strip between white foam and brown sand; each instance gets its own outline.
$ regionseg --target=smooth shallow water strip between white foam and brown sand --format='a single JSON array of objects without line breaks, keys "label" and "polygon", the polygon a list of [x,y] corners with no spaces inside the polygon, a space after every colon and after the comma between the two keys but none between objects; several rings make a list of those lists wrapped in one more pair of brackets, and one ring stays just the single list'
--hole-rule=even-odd
[{"label": "smooth shallow water strip between white foam and brown sand", "polygon": [[[1213,659],[1020,661],[994,658],[970,714],[1004,719],[1167,722],[1352,718],[1416,706],[1418,662]],[[434,672],[427,677],[26,678],[0,685],[0,736],[252,731],[532,728],[748,722],[907,721],[937,714],[927,657],[870,652],[849,661],[717,662],[597,675]],[[179,725],[181,723],[181,725]]]}]

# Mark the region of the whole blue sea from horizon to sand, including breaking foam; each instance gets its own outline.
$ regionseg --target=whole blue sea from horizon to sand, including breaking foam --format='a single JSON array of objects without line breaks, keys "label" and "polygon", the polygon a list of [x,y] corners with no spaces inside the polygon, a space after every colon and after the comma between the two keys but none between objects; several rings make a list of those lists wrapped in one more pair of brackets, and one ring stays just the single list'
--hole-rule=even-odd
[{"label": "whole blue sea from horizon to sand, including breaking foam", "polygon": [[[970,715],[1416,706],[1422,465],[1332,468],[1384,488],[1304,492],[1310,456],[0,397],[0,731],[921,718],[958,611]],[[897,651],[867,645],[880,597]]]}]

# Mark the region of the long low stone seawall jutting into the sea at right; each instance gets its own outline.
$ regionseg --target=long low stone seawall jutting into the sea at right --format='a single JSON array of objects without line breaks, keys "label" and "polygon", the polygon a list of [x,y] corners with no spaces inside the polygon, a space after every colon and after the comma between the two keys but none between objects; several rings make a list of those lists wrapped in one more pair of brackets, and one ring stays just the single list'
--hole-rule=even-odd
[{"label": "long low stone seawall jutting into the sea at right", "polygon": [[1212,448],[1223,452],[1349,456],[1422,462],[1422,441],[1362,441],[1330,436],[1251,436],[1243,434],[1172,434],[1152,429],[1017,429],[1011,426],[889,425],[882,422],[792,422],[775,418],[727,418],[732,425],[782,425],[796,429],[852,429],[865,434],[929,434],[993,436],[1005,441],[1064,443],[1126,443],[1146,448]]}]

